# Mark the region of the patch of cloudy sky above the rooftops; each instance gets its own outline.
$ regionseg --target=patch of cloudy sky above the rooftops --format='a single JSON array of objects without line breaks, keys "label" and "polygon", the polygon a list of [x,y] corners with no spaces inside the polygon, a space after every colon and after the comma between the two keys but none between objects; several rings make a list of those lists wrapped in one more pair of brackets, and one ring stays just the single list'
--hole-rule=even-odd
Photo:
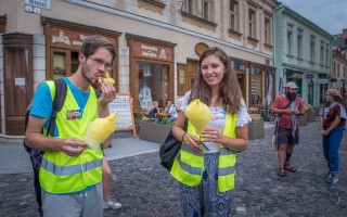
[{"label": "patch of cloudy sky above the rooftops", "polygon": [[347,28],[347,0],[278,0],[331,35]]}]

